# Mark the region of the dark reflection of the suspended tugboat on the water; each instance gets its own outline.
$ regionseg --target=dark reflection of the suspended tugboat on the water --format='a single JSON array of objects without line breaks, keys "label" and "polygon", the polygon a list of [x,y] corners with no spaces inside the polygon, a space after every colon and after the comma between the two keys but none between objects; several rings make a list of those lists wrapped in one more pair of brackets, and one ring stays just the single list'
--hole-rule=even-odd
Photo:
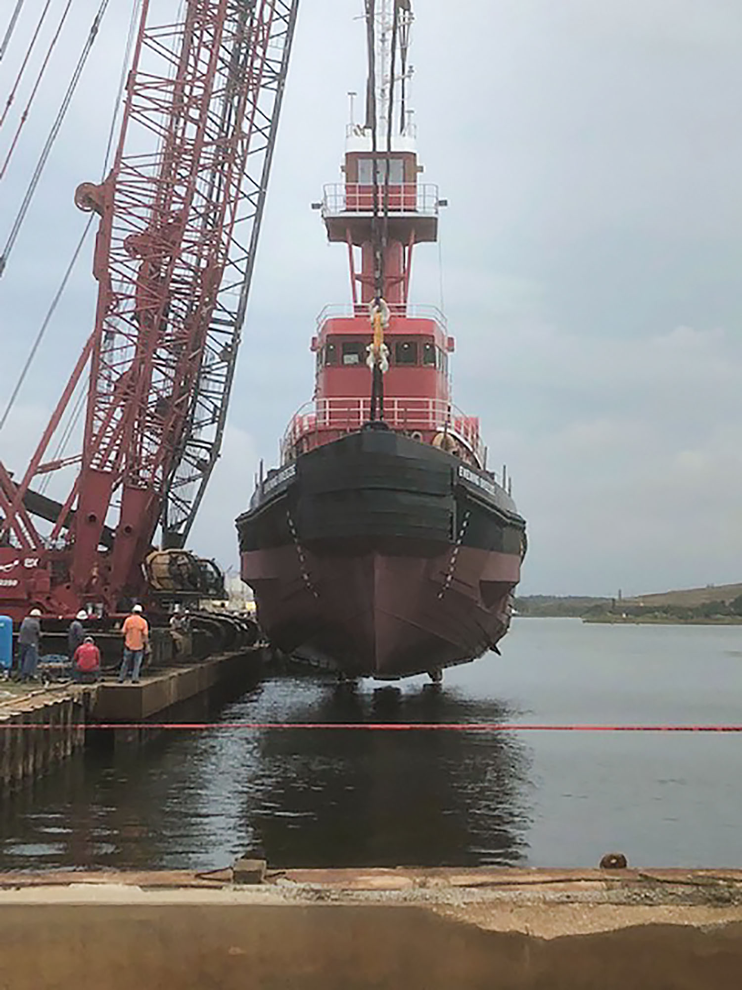
[{"label": "dark reflection of the suspended tugboat on the water", "polygon": [[[478,710],[475,710],[478,709]],[[497,704],[397,688],[325,692],[287,721],[498,721]],[[322,866],[521,859],[527,750],[504,735],[458,731],[284,731],[260,744],[244,813],[271,862]]]}]

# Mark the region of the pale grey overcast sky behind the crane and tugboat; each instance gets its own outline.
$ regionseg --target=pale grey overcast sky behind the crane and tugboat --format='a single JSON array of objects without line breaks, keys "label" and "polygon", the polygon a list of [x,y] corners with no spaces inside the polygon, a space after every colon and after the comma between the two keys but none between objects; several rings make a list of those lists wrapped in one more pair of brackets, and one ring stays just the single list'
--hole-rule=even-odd
[{"label": "pale grey overcast sky behind the crane and tugboat", "polygon": [[[73,2],[0,180],[2,244],[98,2]],[[418,150],[450,205],[440,253],[417,251],[414,297],[440,303],[442,258],[456,401],[481,417],[528,522],[521,592],[742,580],[742,5],[415,6]],[[230,426],[193,533],[227,567],[257,460],[275,462],[312,396],[315,317],[348,298],[345,252],[310,204],[339,179],[345,94],[363,88],[361,7],[301,3]],[[84,225],[74,188],[100,178],[131,9],[111,4],[0,278],[0,399]],[[27,16],[0,62],[0,108],[32,30]],[[22,106],[0,128],[3,157]],[[91,247],[0,433],[12,469],[92,328]]]}]

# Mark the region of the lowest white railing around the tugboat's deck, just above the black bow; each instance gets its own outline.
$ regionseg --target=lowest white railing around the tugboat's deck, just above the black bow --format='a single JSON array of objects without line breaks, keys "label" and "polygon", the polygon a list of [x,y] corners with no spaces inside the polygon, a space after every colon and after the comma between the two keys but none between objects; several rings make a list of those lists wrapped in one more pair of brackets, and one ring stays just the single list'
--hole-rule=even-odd
[{"label": "lowest white railing around the tugboat's deck, just above the black bow", "polygon": [[[371,418],[370,398],[337,397],[308,402],[292,417],[281,442],[281,459],[291,459],[303,438],[325,431],[352,433]],[[408,433],[446,433],[466,446],[484,466],[486,449],[479,435],[479,418],[466,416],[456,406],[441,399],[387,397],[384,421],[392,430]]]}]

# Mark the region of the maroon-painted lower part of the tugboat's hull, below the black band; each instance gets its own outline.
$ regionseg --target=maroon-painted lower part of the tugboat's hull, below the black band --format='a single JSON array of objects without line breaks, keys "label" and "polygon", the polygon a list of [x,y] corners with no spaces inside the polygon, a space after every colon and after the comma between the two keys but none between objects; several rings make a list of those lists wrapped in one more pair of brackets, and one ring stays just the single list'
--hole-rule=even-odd
[{"label": "maroon-painted lower part of the tugboat's hull, below the black band", "polygon": [[349,676],[394,679],[465,662],[508,632],[520,560],[461,546],[432,557],[242,553],[272,644]]}]

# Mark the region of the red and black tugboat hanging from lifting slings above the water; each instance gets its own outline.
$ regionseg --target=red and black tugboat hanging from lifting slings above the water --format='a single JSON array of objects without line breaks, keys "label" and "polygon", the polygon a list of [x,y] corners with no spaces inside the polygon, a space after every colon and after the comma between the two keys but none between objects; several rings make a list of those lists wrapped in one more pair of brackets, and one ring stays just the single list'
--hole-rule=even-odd
[{"label": "red and black tugboat hanging from lifting slings above the water", "polygon": [[418,181],[405,107],[410,2],[374,6],[366,120],[322,203],[351,302],[320,315],[315,399],[236,527],[272,644],[348,677],[437,681],[508,632],[525,523],[478,418],[452,404],[445,318],[409,302],[414,247],[437,240],[444,203]]}]

